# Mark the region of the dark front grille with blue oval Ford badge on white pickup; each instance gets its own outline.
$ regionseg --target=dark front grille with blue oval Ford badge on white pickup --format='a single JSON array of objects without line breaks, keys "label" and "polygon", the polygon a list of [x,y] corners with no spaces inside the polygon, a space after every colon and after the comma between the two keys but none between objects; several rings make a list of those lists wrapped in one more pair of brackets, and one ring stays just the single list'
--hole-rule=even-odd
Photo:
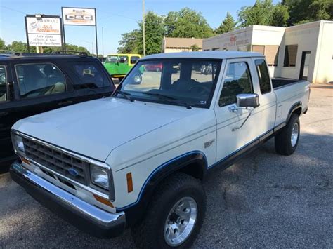
[{"label": "dark front grille with blue oval Ford badge on white pickup", "polygon": [[[60,175],[87,185],[86,169],[89,167],[89,163],[86,161],[25,137],[23,137],[23,143],[25,144],[25,155],[28,159],[32,159]],[[74,172],[74,175],[70,171]]]}]

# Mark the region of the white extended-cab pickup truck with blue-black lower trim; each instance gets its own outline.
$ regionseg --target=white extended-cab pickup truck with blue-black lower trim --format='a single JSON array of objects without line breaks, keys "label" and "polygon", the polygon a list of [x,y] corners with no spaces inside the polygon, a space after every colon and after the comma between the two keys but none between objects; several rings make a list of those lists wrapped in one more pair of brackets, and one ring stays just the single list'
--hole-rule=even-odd
[{"label": "white extended-cab pickup truck with blue-black lower trim", "polygon": [[204,220],[204,176],[270,137],[292,154],[309,95],[308,81],[271,80],[259,53],[150,55],[112,97],[15,123],[11,176],[94,236],[131,227],[139,248],[187,247]]}]

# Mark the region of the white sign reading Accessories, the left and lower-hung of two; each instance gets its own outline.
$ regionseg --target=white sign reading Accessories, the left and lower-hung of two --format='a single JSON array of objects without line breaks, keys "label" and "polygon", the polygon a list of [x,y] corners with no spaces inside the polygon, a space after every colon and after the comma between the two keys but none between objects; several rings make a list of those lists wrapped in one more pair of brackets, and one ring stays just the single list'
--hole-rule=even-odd
[{"label": "white sign reading Accessories, the left and lower-hung of two", "polygon": [[59,16],[27,15],[25,23],[29,46],[62,46],[61,21]]}]

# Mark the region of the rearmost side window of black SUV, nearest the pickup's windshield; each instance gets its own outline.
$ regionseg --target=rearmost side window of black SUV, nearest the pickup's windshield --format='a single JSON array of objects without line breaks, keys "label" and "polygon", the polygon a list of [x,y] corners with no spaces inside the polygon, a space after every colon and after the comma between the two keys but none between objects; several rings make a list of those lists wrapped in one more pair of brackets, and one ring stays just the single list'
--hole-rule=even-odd
[{"label": "rearmost side window of black SUV, nearest the pickup's windshield", "polygon": [[110,86],[110,82],[105,79],[103,71],[93,62],[73,62],[74,74],[79,81],[74,81],[74,89],[103,88]]}]

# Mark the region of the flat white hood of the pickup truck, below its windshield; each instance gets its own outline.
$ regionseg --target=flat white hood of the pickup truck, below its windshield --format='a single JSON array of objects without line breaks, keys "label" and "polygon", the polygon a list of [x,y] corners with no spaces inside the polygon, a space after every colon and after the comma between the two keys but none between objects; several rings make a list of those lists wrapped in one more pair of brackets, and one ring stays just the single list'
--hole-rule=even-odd
[{"label": "flat white hood of the pickup truck, below its windshield", "polygon": [[108,97],[21,119],[13,129],[105,161],[116,147],[194,111],[179,106]]}]

